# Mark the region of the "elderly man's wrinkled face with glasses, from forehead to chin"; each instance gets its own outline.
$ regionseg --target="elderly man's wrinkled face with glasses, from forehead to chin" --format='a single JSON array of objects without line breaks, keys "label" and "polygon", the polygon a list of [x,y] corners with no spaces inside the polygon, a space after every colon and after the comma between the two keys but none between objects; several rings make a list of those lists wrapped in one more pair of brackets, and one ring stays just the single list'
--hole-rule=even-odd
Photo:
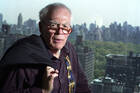
[{"label": "elderly man's wrinkled face with glasses, from forehead to chin", "polygon": [[61,50],[71,32],[71,14],[65,8],[58,8],[51,14],[50,20],[43,25],[42,34],[46,43],[52,50]]}]

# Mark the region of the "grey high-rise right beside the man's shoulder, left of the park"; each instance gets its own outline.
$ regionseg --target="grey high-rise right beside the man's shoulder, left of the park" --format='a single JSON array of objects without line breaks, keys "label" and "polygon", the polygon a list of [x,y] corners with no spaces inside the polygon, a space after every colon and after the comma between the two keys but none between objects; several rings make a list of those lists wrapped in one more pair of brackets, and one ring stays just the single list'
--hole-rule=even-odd
[{"label": "grey high-rise right beside the man's shoulder, left of the park", "polygon": [[77,52],[80,64],[87,76],[88,83],[90,84],[90,82],[94,78],[93,50],[83,45],[82,36],[77,36],[75,46],[76,46],[76,52]]}]

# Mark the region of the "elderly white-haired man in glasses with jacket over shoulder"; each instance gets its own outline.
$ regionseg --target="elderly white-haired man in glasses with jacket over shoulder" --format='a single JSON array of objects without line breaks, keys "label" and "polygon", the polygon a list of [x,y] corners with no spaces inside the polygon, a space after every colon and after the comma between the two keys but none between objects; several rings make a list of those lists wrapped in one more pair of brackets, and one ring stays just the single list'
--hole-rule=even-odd
[{"label": "elderly white-haired man in glasses with jacket over shoulder", "polygon": [[3,56],[0,93],[90,93],[73,46],[71,11],[61,3],[40,11],[40,36],[18,40]]}]

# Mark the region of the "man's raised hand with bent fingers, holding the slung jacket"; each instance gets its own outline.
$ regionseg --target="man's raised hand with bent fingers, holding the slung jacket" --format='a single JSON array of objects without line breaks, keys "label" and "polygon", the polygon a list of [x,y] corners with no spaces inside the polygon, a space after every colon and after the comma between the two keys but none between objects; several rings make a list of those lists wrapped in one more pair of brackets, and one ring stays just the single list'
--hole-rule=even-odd
[{"label": "man's raised hand with bent fingers, holding the slung jacket", "polygon": [[54,78],[58,76],[58,70],[55,70],[54,68],[47,66],[45,68],[45,72],[43,75],[43,81],[42,81],[42,92],[43,93],[50,93],[53,89],[53,82]]}]

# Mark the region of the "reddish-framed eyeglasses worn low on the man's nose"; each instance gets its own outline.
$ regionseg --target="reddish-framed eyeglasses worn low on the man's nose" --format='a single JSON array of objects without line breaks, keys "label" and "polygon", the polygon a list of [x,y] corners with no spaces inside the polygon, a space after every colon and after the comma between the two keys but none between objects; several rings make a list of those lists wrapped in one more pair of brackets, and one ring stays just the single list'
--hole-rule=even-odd
[{"label": "reddish-framed eyeglasses worn low on the man's nose", "polygon": [[[62,29],[62,32],[64,34],[70,34],[72,32],[71,26],[67,25],[67,24],[59,24],[55,21],[49,21],[49,22],[47,22],[47,25],[48,25],[49,29],[53,30],[53,31],[51,31],[53,33],[58,31],[59,29]],[[62,26],[60,26],[60,25],[62,25]]]}]

